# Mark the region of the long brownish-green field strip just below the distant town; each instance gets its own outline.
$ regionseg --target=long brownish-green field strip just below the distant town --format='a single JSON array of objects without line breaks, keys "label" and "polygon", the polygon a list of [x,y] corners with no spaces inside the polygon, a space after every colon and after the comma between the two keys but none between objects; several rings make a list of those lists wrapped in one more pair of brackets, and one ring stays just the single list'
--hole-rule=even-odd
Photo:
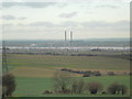
[{"label": "long brownish-green field strip just below the distant town", "polygon": [[53,55],[9,55],[10,68],[20,66],[53,68],[84,68],[106,70],[129,70],[130,62],[123,58],[105,56],[53,56]]}]

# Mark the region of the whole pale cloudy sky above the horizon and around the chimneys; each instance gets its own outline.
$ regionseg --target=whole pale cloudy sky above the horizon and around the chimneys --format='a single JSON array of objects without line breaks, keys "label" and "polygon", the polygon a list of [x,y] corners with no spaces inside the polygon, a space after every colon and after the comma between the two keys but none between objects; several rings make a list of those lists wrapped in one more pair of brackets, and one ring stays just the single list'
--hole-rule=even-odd
[{"label": "whole pale cloudy sky above the horizon and around the chimneys", "polygon": [[[2,2],[4,40],[74,40],[130,37],[130,2]],[[2,23],[2,24],[1,24]]]}]

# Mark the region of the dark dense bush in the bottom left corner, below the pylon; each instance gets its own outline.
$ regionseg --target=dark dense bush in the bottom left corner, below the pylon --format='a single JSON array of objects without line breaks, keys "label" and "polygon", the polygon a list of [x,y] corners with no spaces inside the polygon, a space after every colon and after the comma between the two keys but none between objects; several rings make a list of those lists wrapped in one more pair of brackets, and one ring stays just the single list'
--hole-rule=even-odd
[{"label": "dark dense bush in the bottom left corner, below the pylon", "polygon": [[2,97],[11,97],[15,90],[15,77],[12,74],[2,76]]}]

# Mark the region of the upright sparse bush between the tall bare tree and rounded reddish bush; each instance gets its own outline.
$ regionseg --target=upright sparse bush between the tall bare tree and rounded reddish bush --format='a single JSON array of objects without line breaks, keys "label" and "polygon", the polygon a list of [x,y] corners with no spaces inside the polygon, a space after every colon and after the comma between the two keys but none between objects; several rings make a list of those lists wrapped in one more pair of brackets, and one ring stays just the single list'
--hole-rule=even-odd
[{"label": "upright sparse bush between the tall bare tree and rounded reddish bush", "polygon": [[85,82],[82,79],[75,80],[72,85],[72,94],[82,94],[85,88]]}]

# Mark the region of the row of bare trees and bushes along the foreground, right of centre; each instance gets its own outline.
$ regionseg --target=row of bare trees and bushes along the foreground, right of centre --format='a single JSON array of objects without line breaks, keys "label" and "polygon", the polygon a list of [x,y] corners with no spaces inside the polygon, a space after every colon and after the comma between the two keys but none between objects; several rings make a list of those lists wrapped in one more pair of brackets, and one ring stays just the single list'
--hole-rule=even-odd
[{"label": "row of bare trees and bushes along the foreground, right of centre", "polygon": [[54,77],[54,90],[45,90],[43,94],[102,94],[102,95],[125,95],[128,88],[124,85],[112,82],[106,89],[101,82],[90,81],[86,82],[84,79],[70,77],[67,72],[59,72]]}]

